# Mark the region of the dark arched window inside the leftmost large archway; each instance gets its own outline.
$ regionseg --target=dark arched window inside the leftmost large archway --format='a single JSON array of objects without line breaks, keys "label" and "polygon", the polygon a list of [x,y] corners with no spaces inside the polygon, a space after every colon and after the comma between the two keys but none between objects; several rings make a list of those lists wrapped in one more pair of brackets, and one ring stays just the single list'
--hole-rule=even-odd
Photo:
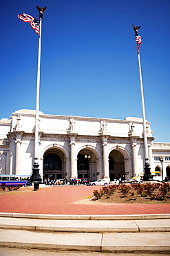
[{"label": "dark arched window inside the leftmost large archway", "polygon": [[43,159],[43,170],[62,170],[62,161],[60,156],[58,156],[57,154],[47,154],[47,156],[45,156],[45,158]]}]

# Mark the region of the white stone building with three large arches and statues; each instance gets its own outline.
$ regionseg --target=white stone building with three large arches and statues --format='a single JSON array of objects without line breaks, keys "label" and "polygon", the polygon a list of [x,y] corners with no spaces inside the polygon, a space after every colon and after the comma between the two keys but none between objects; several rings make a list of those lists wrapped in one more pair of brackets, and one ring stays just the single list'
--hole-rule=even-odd
[{"label": "white stone building with three large arches and statues", "polygon": [[[0,120],[1,174],[32,173],[35,111],[21,109]],[[153,143],[147,122],[151,171],[170,176],[170,143]],[[87,156],[87,158],[85,158]],[[88,158],[89,157],[89,158]],[[140,176],[145,154],[141,118],[125,120],[54,116],[39,112],[39,168],[43,178],[90,180]]]}]

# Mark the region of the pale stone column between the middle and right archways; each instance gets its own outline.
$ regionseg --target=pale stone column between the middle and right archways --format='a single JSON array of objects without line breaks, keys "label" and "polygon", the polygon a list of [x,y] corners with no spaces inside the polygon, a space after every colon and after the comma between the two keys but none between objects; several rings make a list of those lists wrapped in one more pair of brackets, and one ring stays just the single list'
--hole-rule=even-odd
[{"label": "pale stone column between the middle and right archways", "polygon": [[109,178],[109,158],[107,155],[107,138],[103,138],[103,178]]}]

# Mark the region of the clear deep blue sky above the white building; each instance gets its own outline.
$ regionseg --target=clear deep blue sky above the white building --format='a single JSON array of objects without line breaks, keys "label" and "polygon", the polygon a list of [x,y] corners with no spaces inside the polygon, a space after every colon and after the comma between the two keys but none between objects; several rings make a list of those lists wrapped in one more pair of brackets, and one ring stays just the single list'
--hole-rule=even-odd
[{"label": "clear deep blue sky above the white building", "polygon": [[0,118],[35,109],[38,36],[17,18],[43,15],[40,110],[47,114],[142,118],[134,30],[146,118],[154,141],[170,142],[170,1],[1,1]]}]

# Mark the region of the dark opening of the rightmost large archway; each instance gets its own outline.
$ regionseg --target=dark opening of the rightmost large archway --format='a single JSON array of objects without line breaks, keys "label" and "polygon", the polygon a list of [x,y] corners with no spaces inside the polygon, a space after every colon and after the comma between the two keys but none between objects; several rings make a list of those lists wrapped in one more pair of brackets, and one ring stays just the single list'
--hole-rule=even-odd
[{"label": "dark opening of the rightmost large archway", "polygon": [[110,181],[125,177],[125,162],[123,154],[114,149],[109,154],[109,178]]}]

